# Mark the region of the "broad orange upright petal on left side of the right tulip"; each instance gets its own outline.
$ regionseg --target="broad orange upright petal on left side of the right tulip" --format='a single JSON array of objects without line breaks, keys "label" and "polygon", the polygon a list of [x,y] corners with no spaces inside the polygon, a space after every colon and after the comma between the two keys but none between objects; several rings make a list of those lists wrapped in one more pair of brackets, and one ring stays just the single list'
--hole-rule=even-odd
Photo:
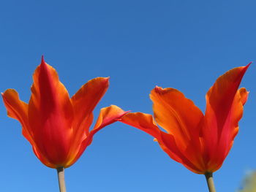
[{"label": "broad orange upright petal on left side of the right tulip", "polygon": [[192,140],[199,147],[203,113],[183,93],[173,88],[156,87],[151,91],[154,118],[169,134],[173,134],[180,150]]}]

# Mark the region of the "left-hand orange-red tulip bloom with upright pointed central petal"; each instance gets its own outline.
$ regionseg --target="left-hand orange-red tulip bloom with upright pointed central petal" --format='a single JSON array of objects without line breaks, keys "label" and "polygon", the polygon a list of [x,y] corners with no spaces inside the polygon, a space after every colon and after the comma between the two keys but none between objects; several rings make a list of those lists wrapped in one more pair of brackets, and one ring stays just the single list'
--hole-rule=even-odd
[{"label": "left-hand orange-red tulip bloom with upright pointed central petal", "polygon": [[108,89],[108,78],[89,80],[69,99],[56,70],[42,57],[33,79],[29,104],[20,101],[14,89],[8,89],[2,93],[4,105],[8,116],[20,121],[23,136],[42,164],[64,174],[64,168],[75,164],[91,144],[94,134],[126,112],[115,105],[103,108],[96,125],[89,131],[94,107]]}]

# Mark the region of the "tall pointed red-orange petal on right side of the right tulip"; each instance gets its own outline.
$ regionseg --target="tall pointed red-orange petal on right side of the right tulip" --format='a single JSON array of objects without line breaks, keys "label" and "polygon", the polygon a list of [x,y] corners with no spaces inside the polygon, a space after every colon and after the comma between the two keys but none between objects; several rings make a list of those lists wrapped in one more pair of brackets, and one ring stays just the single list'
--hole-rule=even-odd
[{"label": "tall pointed red-orange petal on right side of the right tulip", "polygon": [[202,134],[208,171],[219,169],[238,132],[238,121],[248,94],[244,88],[238,91],[238,87],[248,67],[241,66],[226,72],[206,94]]}]

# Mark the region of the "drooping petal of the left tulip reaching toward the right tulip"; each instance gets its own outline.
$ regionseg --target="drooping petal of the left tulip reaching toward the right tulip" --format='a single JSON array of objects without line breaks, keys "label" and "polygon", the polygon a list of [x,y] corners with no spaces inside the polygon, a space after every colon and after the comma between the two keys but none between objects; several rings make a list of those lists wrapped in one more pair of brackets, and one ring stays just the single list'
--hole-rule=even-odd
[{"label": "drooping petal of the left tulip reaching toward the right tulip", "polygon": [[80,149],[78,153],[73,158],[70,158],[70,161],[67,163],[67,166],[71,166],[75,163],[75,161],[80,158],[80,155],[83,154],[83,151],[86,150],[86,147],[88,147],[92,139],[94,137],[94,134],[97,133],[100,129],[104,128],[105,126],[110,125],[111,123],[115,123],[117,120],[119,120],[123,115],[127,114],[124,110],[121,110],[121,108],[117,107],[116,105],[111,105],[110,107],[102,108],[99,112],[99,118],[97,119],[97,123],[94,126],[94,129],[91,130],[86,137],[86,139],[83,140],[83,142],[80,145]]}]

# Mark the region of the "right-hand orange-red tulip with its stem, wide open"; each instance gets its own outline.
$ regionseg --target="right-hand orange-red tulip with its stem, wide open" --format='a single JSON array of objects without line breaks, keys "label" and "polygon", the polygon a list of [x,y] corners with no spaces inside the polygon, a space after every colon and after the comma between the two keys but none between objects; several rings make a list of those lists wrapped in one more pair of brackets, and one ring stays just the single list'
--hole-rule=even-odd
[{"label": "right-hand orange-red tulip with its stem, wide open", "polygon": [[121,122],[155,137],[170,158],[190,171],[205,174],[208,187],[214,191],[212,173],[222,166],[238,134],[248,96],[245,88],[238,87],[248,67],[231,69],[217,79],[206,94],[205,115],[180,91],[156,87],[150,94],[154,118],[132,112]]}]

